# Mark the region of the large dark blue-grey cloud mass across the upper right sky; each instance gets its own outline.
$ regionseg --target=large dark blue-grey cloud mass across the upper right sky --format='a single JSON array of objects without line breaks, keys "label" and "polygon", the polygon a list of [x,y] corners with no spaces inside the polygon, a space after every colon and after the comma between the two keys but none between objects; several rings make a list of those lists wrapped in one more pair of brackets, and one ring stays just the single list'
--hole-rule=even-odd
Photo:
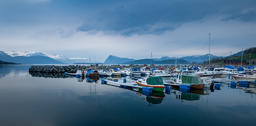
[{"label": "large dark blue-grey cloud mass across the upper right sky", "polygon": [[[115,31],[123,36],[134,34],[162,34],[175,30],[184,23],[205,17],[224,15],[223,20],[242,22],[255,20],[255,12],[240,14],[253,7],[254,1],[146,1],[107,8],[97,15],[90,25],[77,27],[77,31]],[[255,8],[255,7],[254,7]],[[239,13],[239,14],[238,14]],[[254,17],[253,17],[254,16]],[[87,22],[88,23],[88,22]]]}]

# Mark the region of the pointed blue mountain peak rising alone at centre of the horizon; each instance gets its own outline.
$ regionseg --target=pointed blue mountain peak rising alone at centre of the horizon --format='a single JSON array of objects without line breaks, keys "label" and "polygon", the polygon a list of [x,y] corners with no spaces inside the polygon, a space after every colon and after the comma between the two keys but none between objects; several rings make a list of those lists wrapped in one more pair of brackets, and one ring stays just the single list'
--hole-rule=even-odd
[{"label": "pointed blue mountain peak rising alone at centre of the horizon", "polygon": [[123,62],[135,61],[135,59],[120,58],[117,56],[109,55],[108,58],[103,62],[103,64],[121,64]]}]

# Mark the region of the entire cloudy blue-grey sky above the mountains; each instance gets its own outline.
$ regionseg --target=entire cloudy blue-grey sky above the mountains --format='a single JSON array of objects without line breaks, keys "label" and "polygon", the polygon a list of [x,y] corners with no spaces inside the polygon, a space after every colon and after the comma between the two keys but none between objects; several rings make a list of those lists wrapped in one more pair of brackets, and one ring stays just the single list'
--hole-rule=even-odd
[{"label": "entire cloudy blue-grey sky above the mountains", "polygon": [[256,46],[255,0],[1,0],[0,50],[105,61],[209,53]]}]

